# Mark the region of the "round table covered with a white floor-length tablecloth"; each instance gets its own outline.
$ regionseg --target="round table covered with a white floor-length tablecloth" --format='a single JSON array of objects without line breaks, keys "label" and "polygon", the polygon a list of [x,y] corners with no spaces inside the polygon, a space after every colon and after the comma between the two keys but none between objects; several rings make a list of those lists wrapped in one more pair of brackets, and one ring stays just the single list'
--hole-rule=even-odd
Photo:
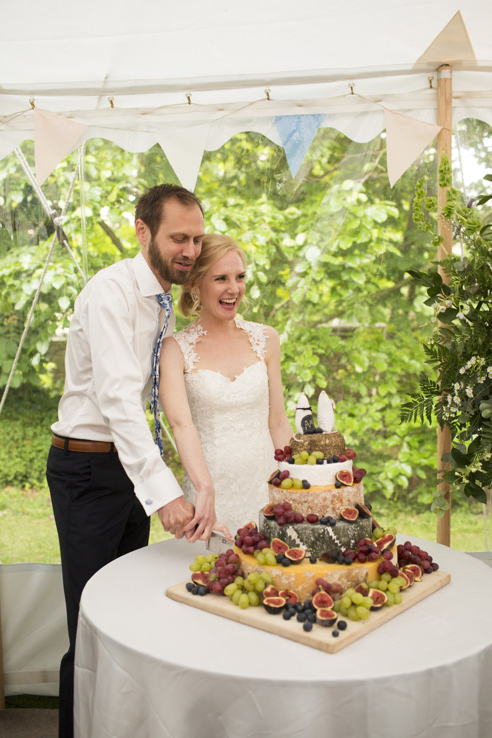
[{"label": "round table covered with a white floor-length tablecloth", "polygon": [[76,737],[491,738],[492,569],[412,542],[451,582],[333,654],[167,598],[204,544],[122,556],[83,591]]}]

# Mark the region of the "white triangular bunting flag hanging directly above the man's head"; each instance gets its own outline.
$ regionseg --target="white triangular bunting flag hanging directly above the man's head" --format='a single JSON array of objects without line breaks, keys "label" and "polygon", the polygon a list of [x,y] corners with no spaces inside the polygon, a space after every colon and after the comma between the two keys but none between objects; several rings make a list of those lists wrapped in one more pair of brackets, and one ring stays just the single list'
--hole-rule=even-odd
[{"label": "white triangular bunting flag hanging directly above the man's head", "polygon": [[190,128],[181,128],[180,131],[162,131],[157,135],[157,142],[179,182],[192,192],[204,156],[207,136],[207,125],[192,125]]}]

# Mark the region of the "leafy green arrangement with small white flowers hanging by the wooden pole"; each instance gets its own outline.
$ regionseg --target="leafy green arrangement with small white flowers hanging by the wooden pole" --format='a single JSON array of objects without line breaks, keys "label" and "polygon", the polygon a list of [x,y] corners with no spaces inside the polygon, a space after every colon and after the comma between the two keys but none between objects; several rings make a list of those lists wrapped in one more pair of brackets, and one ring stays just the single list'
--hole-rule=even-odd
[{"label": "leafy green arrangement with small white flowers hanging by the wooden pole", "polygon": [[[420,392],[401,407],[401,421],[432,420],[451,430],[453,448],[443,463],[451,469],[443,479],[461,488],[467,497],[487,500],[484,487],[492,486],[492,227],[482,224],[474,210],[462,204],[460,191],[451,187],[451,168],[443,156],[439,184],[449,187],[446,206],[438,213],[437,200],[427,197],[423,179],[417,184],[414,220],[423,232],[434,232],[437,218],[445,218],[454,235],[467,246],[468,256],[446,257],[440,265],[450,278],[437,272],[409,270],[412,282],[426,287],[434,330],[423,343],[427,363],[437,369],[437,381],[422,373]],[[492,175],[485,177],[492,181]],[[492,195],[482,196],[485,204]],[[429,221],[430,216],[430,221]],[[434,232],[434,246],[442,237]],[[448,503],[438,491],[431,509],[444,514]]]}]

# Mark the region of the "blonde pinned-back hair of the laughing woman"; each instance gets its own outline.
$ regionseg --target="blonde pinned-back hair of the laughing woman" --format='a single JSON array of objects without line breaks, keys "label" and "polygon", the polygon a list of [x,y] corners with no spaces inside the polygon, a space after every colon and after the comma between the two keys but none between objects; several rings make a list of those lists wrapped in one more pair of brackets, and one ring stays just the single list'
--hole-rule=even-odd
[{"label": "blonde pinned-back hair of the laughing woman", "polygon": [[[207,233],[201,241],[201,252],[195,261],[195,266],[190,274],[190,282],[181,286],[181,294],[179,296],[179,311],[184,317],[198,315],[201,310],[200,294],[198,287],[204,278],[205,272],[208,272],[211,266],[215,264],[226,254],[234,252],[238,254],[243,262],[244,269],[248,266],[246,254],[240,248],[238,243],[228,235],[222,233]],[[248,306],[249,300],[243,297],[243,304]]]}]

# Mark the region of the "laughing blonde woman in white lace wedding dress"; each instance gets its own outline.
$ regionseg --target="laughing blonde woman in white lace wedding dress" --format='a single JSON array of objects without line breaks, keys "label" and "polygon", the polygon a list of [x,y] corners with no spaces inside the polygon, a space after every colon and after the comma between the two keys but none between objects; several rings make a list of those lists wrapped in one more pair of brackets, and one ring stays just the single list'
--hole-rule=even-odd
[{"label": "laughing blonde woman in white lace wedding dress", "polygon": [[192,540],[212,530],[232,539],[257,517],[274,448],[292,435],[277,331],[236,317],[245,277],[234,239],[206,235],[179,300],[182,314],[198,318],[162,344],[161,401],[184,466],[184,496],[195,505],[184,528],[198,526]]}]

